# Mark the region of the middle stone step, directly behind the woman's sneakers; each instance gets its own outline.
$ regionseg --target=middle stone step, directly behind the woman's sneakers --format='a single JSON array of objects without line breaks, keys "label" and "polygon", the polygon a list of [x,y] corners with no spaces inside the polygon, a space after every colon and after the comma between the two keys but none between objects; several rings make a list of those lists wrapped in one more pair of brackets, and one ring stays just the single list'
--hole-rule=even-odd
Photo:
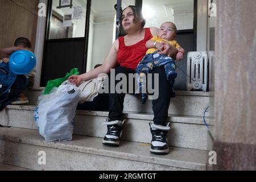
[{"label": "middle stone step, directly behind the woman's sneakers", "polygon": [[[34,122],[36,106],[9,105],[0,112],[0,123],[25,129],[37,129]],[[102,122],[108,117],[104,111],[76,111],[74,134],[103,138],[106,134],[106,125]],[[126,126],[123,130],[122,140],[150,143],[151,134],[148,122],[152,121],[152,113],[126,112]],[[171,130],[168,132],[168,141],[171,146],[207,150],[207,127],[203,118],[169,115]],[[210,126],[213,119],[206,118]]]}]

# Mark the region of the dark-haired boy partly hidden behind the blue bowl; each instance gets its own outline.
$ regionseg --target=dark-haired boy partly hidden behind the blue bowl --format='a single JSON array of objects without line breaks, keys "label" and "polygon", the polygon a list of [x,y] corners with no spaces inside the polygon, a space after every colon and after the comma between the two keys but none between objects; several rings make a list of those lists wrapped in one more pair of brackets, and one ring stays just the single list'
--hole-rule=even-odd
[{"label": "dark-haired boy partly hidden behind the blue bowl", "polygon": [[[31,48],[32,48],[30,40],[28,40],[27,38],[16,39],[14,42],[14,46],[25,49],[27,51],[31,51]],[[4,61],[5,63],[8,63],[9,58],[5,57],[2,59],[2,61]],[[24,76],[18,75],[13,86],[20,87],[20,86],[23,86],[24,84],[26,84],[27,86],[34,86],[35,75],[36,75],[35,69],[33,69],[30,73],[27,73],[27,75],[24,75]],[[27,100],[27,97],[24,96],[24,94],[19,94],[19,97],[16,98],[13,102],[11,102],[11,104],[27,104],[27,103],[28,103],[28,100]]]}]

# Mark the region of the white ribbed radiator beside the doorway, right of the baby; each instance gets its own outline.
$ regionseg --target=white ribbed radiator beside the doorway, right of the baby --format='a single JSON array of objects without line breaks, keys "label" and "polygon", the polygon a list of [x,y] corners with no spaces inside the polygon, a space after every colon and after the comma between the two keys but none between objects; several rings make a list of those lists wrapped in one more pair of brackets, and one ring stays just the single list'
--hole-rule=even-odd
[{"label": "white ribbed radiator beside the doorway, right of the baby", "polygon": [[188,52],[187,90],[207,92],[208,57],[207,52]]}]

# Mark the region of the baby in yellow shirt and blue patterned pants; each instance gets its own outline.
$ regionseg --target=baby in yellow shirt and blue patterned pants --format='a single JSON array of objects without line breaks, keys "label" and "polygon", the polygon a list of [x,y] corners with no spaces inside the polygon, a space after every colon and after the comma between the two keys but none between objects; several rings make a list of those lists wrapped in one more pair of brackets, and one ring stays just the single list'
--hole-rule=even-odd
[{"label": "baby in yellow shirt and blue patterned pants", "polygon": [[[158,52],[162,51],[166,44],[170,44],[178,50],[176,60],[180,61],[183,59],[185,50],[176,42],[176,32],[177,28],[174,23],[165,22],[161,25],[158,36],[154,36],[147,41],[146,47],[148,50],[146,56],[143,57],[136,69],[139,75],[139,93],[142,93],[142,90],[146,90],[146,73],[150,73],[152,69],[157,67],[164,67],[167,80],[170,81],[173,88],[175,78],[177,77],[175,61],[168,55],[159,54]],[[142,93],[142,103],[144,104],[146,100],[147,94]]]}]

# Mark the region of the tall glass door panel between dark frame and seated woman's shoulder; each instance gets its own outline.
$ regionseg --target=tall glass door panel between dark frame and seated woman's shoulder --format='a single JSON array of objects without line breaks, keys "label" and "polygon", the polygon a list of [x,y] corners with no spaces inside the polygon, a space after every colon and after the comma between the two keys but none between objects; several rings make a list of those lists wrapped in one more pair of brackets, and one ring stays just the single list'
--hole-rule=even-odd
[{"label": "tall glass door panel between dark frame and seated woman's shoulder", "polygon": [[115,40],[117,0],[93,0],[90,11],[90,30],[86,71],[102,64]]}]

